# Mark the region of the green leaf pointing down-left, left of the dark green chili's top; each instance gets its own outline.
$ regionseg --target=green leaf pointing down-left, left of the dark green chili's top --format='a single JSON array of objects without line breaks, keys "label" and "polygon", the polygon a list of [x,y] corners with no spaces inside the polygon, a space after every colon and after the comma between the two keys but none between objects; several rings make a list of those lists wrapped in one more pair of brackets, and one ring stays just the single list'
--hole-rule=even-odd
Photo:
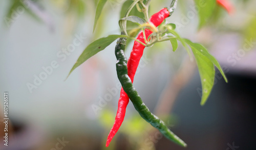
[{"label": "green leaf pointing down-left, left of the dark green chili's top", "polygon": [[[102,37],[95,41],[93,41],[90,45],[87,46],[86,49],[83,50],[82,54],[77,59],[75,65],[70,70],[69,75],[78,67],[80,66],[84,61],[92,57],[93,55],[97,54],[98,52],[104,50],[106,47],[108,47],[114,40],[116,40],[119,37],[127,37],[125,35],[109,35],[108,37]],[[68,75],[68,77],[69,77]],[[68,78],[67,77],[67,78]]]}]

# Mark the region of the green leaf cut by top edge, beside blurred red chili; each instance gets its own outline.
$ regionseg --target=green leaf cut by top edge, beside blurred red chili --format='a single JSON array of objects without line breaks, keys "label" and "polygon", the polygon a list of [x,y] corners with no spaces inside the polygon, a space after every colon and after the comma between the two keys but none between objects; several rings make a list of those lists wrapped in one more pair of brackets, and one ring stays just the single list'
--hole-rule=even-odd
[{"label": "green leaf cut by top edge, beside blurred red chili", "polygon": [[207,20],[211,17],[216,7],[216,0],[195,0],[196,9],[199,15],[199,26],[200,29]]}]

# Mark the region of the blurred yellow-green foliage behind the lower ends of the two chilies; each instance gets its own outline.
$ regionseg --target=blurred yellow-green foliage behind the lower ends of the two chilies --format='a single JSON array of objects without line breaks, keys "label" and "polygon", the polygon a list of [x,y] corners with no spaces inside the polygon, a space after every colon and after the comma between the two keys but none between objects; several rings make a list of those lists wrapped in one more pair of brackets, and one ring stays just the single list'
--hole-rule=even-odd
[{"label": "blurred yellow-green foliage behind the lower ends of the two chilies", "polygon": [[[99,121],[106,133],[109,133],[110,129],[112,128],[115,121],[115,116],[116,112],[108,109],[102,110]],[[174,127],[175,124],[178,124],[178,118],[175,115],[166,114],[165,116],[160,116],[160,118],[166,122],[167,126],[170,128]],[[125,117],[122,126],[119,128],[119,131],[113,138],[108,148],[115,149],[116,140],[119,136],[124,135],[130,142],[128,144],[130,149],[155,149],[154,146],[148,147],[148,145],[145,144],[145,141],[147,140],[148,136],[154,136],[156,134],[158,134],[158,131],[143,120],[138,113],[135,113],[132,116]],[[107,136],[108,135],[105,135],[105,137]],[[105,149],[105,142],[105,139],[102,140],[102,149]]]}]

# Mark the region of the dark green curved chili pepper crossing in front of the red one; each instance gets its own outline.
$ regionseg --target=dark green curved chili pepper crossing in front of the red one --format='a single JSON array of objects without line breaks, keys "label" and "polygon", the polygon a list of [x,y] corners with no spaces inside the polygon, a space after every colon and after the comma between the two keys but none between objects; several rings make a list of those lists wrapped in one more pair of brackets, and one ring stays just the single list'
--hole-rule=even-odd
[{"label": "dark green curved chili pepper crossing in front of the red one", "polygon": [[122,44],[124,39],[120,38],[115,49],[115,55],[117,58],[116,70],[119,81],[122,84],[123,90],[131,99],[135,109],[138,111],[140,116],[149,122],[152,126],[156,127],[166,138],[174,141],[175,143],[186,147],[186,143],[176,136],[165,123],[160,120],[157,116],[152,114],[147,106],[142,102],[138,92],[133,87],[132,79],[128,76],[127,71],[127,58],[124,54],[124,45]]}]

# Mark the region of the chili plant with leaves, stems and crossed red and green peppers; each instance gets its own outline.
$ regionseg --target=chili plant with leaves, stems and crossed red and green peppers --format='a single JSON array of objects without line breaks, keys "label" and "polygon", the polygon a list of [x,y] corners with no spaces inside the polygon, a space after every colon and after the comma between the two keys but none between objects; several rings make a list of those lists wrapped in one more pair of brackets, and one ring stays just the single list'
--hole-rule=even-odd
[{"label": "chili plant with leaves, stems and crossed red and green peppers", "polygon": [[[154,47],[154,44],[156,44],[157,42],[170,42],[172,44],[173,52],[175,52],[178,49],[178,41],[180,41],[191,60],[193,60],[194,55],[197,62],[203,89],[201,105],[205,104],[214,85],[215,67],[221,72],[226,82],[227,78],[219,62],[215,59],[214,56],[212,56],[208,52],[208,50],[204,46],[195,43],[189,39],[182,38],[175,30],[176,25],[166,22],[165,18],[171,17],[172,14],[175,12],[175,9],[178,5],[177,0],[173,0],[172,2],[170,2],[169,6],[163,6],[163,8],[159,10],[159,12],[155,12],[151,17],[149,17],[148,15],[148,10],[151,6],[151,0],[135,0],[130,1],[129,3],[128,2],[129,1],[126,1],[123,4],[130,5],[125,10],[126,12],[124,16],[122,16],[118,23],[121,30],[120,35],[109,35],[107,37],[102,37],[93,41],[84,49],[82,54],[79,56],[69,75],[83,62],[85,62],[98,52],[104,50],[112,42],[118,39],[115,51],[113,50],[113,53],[115,53],[117,58],[116,71],[122,88],[120,89],[121,92],[118,101],[117,115],[114,125],[110,130],[110,134],[106,140],[106,146],[109,146],[111,140],[114,138],[119,127],[121,126],[124,120],[126,106],[129,103],[130,99],[136,111],[145,121],[157,128],[167,139],[179,144],[180,146],[186,147],[186,143],[181,140],[177,135],[175,135],[172,131],[170,131],[164,121],[162,121],[156,115],[150,112],[145,103],[143,103],[141,97],[139,96],[139,93],[136,91],[133,85],[134,76],[138,68],[140,58],[143,55],[144,49],[146,47]],[[229,13],[233,11],[232,5],[227,0],[210,0],[203,2],[204,3],[202,5],[202,1],[195,0],[195,5],[200,6],[200,9],[198,9],[198,14],[200,18],[199,29],[206,24],[207,19],[210,18],[215,7],[221,6]],[[93,30],[95,30],[96,28],[97,21],[105,3],[106,0],[99,0],[96,9]],[[140,17],[139,15],[130,15],[130,12],[133,9],[137,9],[138,12],[143,13],[143,17]],[[133,22],[136,24],[136,26],[128,28],[127,22]],[[133,49],[128,60],[124,53],[125,46],[127,45],[127,39],[134,40]]]}]

